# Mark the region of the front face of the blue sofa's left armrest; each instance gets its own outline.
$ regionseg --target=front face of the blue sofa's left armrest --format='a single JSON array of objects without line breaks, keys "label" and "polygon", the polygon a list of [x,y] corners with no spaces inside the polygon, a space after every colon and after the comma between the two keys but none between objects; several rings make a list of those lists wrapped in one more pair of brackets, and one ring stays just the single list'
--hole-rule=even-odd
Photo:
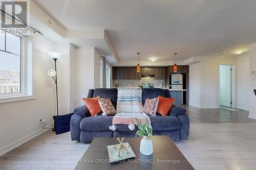
[{"label": "front face of the blue sofa's left armrest", "polygon": [[83,116],[80,114],[73,114],[70,119],[70,135],[71,140],[80,141],[80,122],[83,119]]}]

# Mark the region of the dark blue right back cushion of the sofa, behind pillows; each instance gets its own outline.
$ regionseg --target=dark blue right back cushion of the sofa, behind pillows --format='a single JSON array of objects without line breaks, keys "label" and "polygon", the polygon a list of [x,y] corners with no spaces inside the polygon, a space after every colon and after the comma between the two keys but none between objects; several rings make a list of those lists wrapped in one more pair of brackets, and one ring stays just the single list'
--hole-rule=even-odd
[{"label": "dark blue right back cushion of the sofa, behind pillows", "polygon": [[142,105],[144,106],[146,99],[157,98],[158,95],[165,96],[165,92],[161,88],[142,88]]}]

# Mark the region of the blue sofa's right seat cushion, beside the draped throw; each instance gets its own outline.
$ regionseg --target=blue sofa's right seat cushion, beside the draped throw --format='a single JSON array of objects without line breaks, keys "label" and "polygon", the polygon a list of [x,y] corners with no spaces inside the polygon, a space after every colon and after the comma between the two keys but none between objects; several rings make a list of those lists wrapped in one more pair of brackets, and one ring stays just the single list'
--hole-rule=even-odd
[{"label": "blue sofa's right seat cushion, beside the draped throw", "polygon": [[175,116],[150,116],[153,131],[167,131],[180,128],[180,120]]}]

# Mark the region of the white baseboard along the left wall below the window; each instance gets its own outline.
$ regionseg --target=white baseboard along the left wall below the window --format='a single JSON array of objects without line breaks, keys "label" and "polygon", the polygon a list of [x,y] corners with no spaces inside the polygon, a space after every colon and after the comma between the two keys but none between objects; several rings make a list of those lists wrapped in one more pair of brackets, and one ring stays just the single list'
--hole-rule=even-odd
[{"label": "white baseboard along the left wall below the window", "polygon": [[[48,125],[46,128],[53,128],[53,123]],[[13,142],[13,143],[7,145],[6,147],[0,149],[0,156],[2,156],[4,154],[14,150],[15,148],[19,147],[20,145],[26,143],[27,141],[35,138],[36,136],[38,136],[38,135],[40,135],[40,134],[42,134],[44,132],[46,132],[47,130],[49,130],[49,129],[40,129],[40,130],[38,130],[38,131],[36,131],[34,133],[31,133],[30,135],[28,135],[28,136],[26,136],[26,137],[24,137],[22,139],[19,139],[19,140]]]}]

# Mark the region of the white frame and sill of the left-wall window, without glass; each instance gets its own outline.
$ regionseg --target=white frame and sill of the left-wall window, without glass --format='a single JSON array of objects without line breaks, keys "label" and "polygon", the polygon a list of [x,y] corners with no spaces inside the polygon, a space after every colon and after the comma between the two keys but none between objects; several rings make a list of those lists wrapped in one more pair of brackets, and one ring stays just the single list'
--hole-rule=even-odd
[{"label": "white frame and sill of the left-wall window, without glass", "polygon": [[[24,36],[24,35],[16,35],[16,34],[13,34],[13,35],[20,37],[20,41],[21,41],[20,42],[20,92],[0,93],[0,104],[35,99],[34,65],[33,65],[34,64],[33,62],[34,36]],[[5,35],[5,39],[6,39],[6,35]],[[29,41],[31,41],[31,48],[28,45]],[[29,55],[28,50],[31,50],[30,59],[28,56]],[[3,52],[6,52],[6,45],[5,45],[5,51]],[[10,52],[7,52],[7,53],[10,53]],[[31,82],[31,86],[29,87],[28,84],[30,82]]]}]

